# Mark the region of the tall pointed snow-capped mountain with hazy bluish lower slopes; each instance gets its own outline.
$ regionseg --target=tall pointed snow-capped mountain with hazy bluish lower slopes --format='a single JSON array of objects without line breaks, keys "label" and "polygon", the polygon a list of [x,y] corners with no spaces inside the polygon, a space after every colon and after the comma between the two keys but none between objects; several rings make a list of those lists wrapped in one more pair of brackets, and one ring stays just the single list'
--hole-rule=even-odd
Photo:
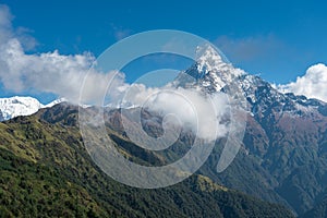
[{"label": "tall pointed snow-capped mountain with hazy bluish lower slopes", "polygon": [[194,81],[181,75],[178,85],[207,93],[237,87],[247,101],[245,136],[235,160],[217,173],[213,162],[220,150],[215,149],[201,173],[228,187],[282,203],[298,214],[311,209],[327,191],[327,104],[282,94],[226,63],[210,47],[184,73]]}]

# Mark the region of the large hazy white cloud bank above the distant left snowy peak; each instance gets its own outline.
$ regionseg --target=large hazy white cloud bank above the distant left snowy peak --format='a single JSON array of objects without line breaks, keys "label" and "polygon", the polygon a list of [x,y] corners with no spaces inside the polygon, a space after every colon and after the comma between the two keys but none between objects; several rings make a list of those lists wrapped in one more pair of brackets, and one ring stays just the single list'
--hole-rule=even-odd
[{"label": "large hazy white cloud bank above the distant left snowy peak", "polygon": [[[35,39],[25,28],[12,27],[12,15],[0,5],[0,81],[4,88],[24,93],[28,89],[53,93],[71,101],[78,101],[84,84],[88,99],[104,95],[111,74],[89,70],[95,58],[88,53],[62,56],[59,51],[28,55],[24,48],[35,46]],[[87,99],[84,99],[87,100]]]}]

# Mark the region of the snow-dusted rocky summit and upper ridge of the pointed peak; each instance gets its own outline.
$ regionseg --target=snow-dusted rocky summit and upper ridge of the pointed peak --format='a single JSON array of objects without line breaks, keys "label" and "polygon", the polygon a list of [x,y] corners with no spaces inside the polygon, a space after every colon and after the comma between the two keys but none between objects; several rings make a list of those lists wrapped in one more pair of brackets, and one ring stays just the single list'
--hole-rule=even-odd
[{"label": "snow-dusted rocky summit and upper ridge of the pointed peak", "polygon": [[207,93],[220,92],[226,87],[232,88],[241,92],[246,98],[249,112],[259,117],[265,117],[271,110],[287,112],[292,117],[313,112],[325,114],[327,110],[326,102],[283,94],[259,76],[234,68],[210,46],[197,49],[196,62],[174,81],[174,85],[195,87]]}]

